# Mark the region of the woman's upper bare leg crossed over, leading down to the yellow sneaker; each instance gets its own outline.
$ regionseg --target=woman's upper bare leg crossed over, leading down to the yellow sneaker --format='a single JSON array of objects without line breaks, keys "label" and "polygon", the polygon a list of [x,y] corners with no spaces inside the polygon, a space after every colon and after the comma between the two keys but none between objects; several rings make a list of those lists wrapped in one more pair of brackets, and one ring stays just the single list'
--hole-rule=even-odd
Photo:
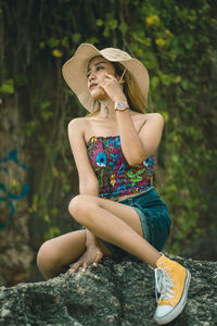
[{"label": "woman's upper bare leg crossed over, leading down to the yellow sneaker", "polygon": [[69,213],[97,237],[118,246],[151,266],[156,266],[161,253],[142,237],[137,212],[125,204],[79,195],[69,203]]}]

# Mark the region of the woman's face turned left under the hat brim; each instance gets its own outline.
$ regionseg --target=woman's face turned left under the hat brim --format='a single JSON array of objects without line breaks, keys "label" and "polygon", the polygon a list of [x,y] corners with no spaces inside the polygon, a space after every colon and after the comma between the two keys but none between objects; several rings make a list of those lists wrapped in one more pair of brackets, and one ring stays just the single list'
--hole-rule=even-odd
[{"label": "woman's face turned left under the hat brim", "polygon": [[95,57],[89,62],[87,71],[88,89],[94,100],[102,100],[106,97],[104,89],[100,87],[106,73],[115,76],[115,68],[108,60],[103,57]]}]

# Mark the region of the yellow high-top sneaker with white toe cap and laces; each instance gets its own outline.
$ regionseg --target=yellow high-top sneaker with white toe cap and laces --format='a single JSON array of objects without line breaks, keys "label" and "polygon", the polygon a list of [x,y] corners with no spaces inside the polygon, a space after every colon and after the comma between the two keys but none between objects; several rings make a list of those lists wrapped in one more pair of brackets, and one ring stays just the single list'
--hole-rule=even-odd
[{"label": "yellow high-top sneaker with white toe cap and laces", "polygon": [[164,254],[156,262],[155,293],[157,308],[154,319],[164,325],[174,321],[187,303],[190,272]]}]

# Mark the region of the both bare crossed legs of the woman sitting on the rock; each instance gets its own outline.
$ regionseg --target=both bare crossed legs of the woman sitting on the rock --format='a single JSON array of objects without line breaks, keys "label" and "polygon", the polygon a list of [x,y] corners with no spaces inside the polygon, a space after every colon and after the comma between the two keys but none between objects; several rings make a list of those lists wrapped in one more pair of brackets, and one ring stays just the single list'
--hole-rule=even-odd
[{"label": "both bare crossed legs of the woman sitting on the rock", "polygon": [[[155,267],[161,254],[142,237],[141,222],[133,208],[94,196],[79,195],[71,201],[68,210],[78,223],[98,238],[120,247]],[[110,255],[105,244],[100,243],[103,254]],[[85,250],[85,230],[62,235],[41,246],[37,256],[38,267],[44,278],[54,277],[66,271]]]}]

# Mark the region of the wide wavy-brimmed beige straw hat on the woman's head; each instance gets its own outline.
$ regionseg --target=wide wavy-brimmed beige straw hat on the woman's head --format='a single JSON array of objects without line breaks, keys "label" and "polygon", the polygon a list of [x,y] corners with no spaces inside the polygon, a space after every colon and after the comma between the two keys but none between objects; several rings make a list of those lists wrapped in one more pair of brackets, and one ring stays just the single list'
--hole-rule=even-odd
[{"label": "wide wavy-brimmed beige straw hat on the woman's head", "polygon": [[127,52],[119,49],[106,48],[100,51],[92,45],[81,43],[75,54],[63,65],[62,72],[67,85],[89,112],[93,110],[94,100],[88,89],[87,67],[89,61],[97,55],[102,55],[111,62],[122,63],[130,72],[143,98],[148,102],[149,74],[139,60],[131,58]]}]

